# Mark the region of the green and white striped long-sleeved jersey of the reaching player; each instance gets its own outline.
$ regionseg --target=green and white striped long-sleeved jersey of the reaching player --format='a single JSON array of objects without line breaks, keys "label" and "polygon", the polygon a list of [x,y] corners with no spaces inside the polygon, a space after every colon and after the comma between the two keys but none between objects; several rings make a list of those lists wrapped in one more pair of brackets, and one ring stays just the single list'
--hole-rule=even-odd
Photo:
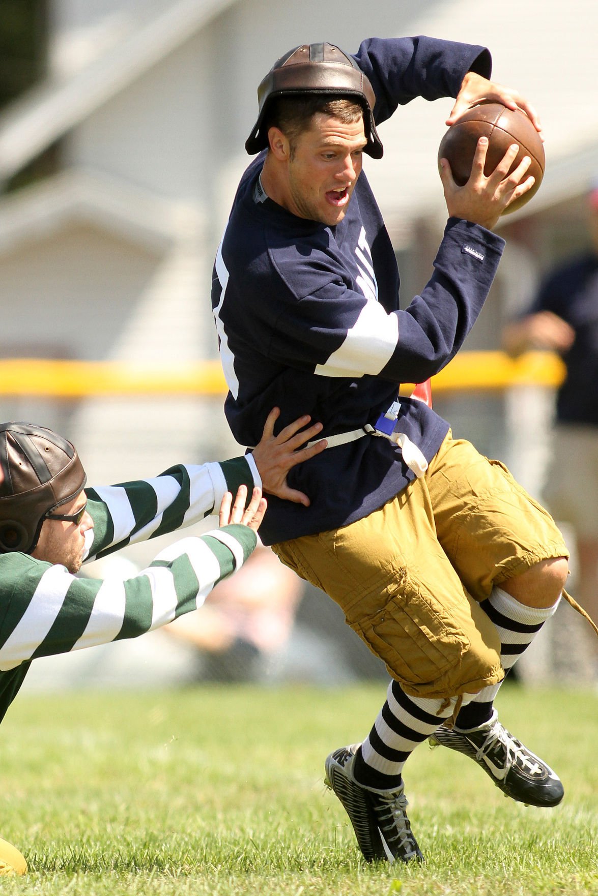
[{"label": "green and white striped long-sleeved jersey of the reaching player", "polygon": [[[217,512],[222,495],[261,485],[251,455],[178,465],[152,479],[86,488],[93,520],[85,562]],[[125,582],[77,578],[65,566],[21,553],[0,555],[0,721],[36,657],[134,638],[201,607],[256,547],[256,533],[230,525],[165,548]]]}]

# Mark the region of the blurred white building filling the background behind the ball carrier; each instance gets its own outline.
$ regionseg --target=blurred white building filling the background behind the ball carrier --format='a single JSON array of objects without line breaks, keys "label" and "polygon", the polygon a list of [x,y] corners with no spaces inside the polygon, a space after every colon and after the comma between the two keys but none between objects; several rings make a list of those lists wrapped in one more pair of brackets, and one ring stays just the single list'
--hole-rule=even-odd
[{"label": "blurred white building filling the background behind the ball carrier", "polygon": [[[59,170],[0,199],[0,354],[155,361],[215,357],[212,258],[274,59],[327,39],[426,33],[490,47],[497,80],[542,112],[542,190],[507,222],[505,264],[470,348],[495,348],[507,305],[526,297],[555,248],[583,231],[581,196],[598,171],[594,35],[598,10],[506,0],[50,0],[48,80],[0,116],[0,181],[56,146]],[[366,159],[403,261],[405,297],[428,277],[445,220],[436,169],[451,100],[416,100],[383,124],[385,158]],[[417,252],[415,248],[417,247]],[[498,399],[443,402],[492,442]],[[80,446],[91,478],[130,478],[179,458],[233,453],[221,401],[2,401]],[[501,407],[501,404],[500,404]],[[499,416],[499,415],[498,415]],[[480,423],[481,421],[481,423]],[[477,428],[476,428],[477,427]],[[495,448],[499,452],[500,446]]]}]

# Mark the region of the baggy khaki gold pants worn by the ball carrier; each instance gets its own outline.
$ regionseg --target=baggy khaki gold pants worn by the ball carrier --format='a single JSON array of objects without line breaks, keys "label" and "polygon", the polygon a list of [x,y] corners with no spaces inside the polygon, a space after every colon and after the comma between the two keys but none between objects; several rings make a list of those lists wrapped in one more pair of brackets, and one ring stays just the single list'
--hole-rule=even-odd
[{"label": "baggy khaki gold pants worn by the ball carrier", "polygon": [[407,694],[476,694],[504,676],[493,586],[568,556],[540,504],[506,467],[451,433],[423,478],[341,529],[273,545],[325,591]]}]

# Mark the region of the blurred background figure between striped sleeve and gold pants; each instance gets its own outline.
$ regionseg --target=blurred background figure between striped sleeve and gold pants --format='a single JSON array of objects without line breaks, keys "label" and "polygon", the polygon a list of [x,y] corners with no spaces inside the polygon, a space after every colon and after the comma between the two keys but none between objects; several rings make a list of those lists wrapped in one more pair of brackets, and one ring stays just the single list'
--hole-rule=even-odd
[{"label": "blurred background figure between striped sleeve and gold pants", "polygon": [[[160,629],[193,646],[191,680],[342,685],[386,680],[384,663],[345,625],[340,607],[269,547],[256,547],[237,583],[221,582],[195,613]],[[221,587],[223,586],[223,587]]]}]

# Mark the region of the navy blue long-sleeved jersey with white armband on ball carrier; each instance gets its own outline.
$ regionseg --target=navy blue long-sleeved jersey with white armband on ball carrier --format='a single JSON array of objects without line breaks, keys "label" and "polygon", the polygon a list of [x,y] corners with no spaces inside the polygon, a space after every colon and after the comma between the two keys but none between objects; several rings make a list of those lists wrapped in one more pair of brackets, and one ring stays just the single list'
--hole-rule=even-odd
[{"label": "navy blue long-sleeved jersey with white armband on ball carrier", "polygon": [[[355,57],[376,90],[376,120],[415,96],[455,96],[490,56],[428,38],[370,39]],[[323,435],[373,423],[400,383],[438,373],[481,311],[504,241],[450,219],[420,296],[399,310],[394,249],[362,172],[334,227],[296,217],[270,199],[256,202],[264,153],[247,168],[214,266],[212,309],[229,385],[225,412],[240,444],[259,441],[270,409],[280,426],[301,414]],[[446,421],[420,401],[401,402],[397,423],[429,461]],[[345,525],[398,494],[414,474],[402,452],[365,436],[328,448],[290,471],[311,506],[269,498],[260,529],[266,544]]]}]

